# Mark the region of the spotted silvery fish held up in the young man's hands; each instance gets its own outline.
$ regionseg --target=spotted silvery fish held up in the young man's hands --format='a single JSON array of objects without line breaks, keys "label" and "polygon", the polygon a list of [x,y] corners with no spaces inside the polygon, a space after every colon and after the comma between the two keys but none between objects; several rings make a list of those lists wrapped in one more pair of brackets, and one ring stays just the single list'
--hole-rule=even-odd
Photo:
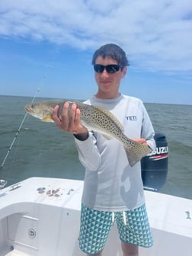
[{"label": "spotted silvery fish held up in the young man's hands", "polygon": [[[59,105],[59,116],[62,113],[62,106],[68,100],[51,100],[30,103],[25,106],[25,110],[33,117],[37,117],[44,122],[53,122],[53,108]],[[133,139],[128,138],[123,130],[123,126],[117,117],[109,110],[100,106],[85,104],[81,101],[68,101],[69,110],[72,104],[76,104],[81,111],[81,123],[88,130],[101,133],[106,139],[117,139],[122,143],[130,166],[135,165],[142,157],[152,152],[149,146],[142,145]]]}]

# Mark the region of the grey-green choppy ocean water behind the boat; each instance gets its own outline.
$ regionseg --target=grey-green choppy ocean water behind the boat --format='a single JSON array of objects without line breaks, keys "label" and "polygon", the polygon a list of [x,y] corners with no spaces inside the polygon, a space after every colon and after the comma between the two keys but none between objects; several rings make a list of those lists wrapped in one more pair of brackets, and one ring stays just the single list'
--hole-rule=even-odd
[{"label": "grey-green choppy ocean water behind the boat", "polygon": [[[0,95],[0,179],[8,185],[34,176],[83,180],[71,134],[29,115],[21,126],[31,99]],[[192,105],[145,105],[155,133],[168,141],[168,177],[160,192],[192,199]]]}]

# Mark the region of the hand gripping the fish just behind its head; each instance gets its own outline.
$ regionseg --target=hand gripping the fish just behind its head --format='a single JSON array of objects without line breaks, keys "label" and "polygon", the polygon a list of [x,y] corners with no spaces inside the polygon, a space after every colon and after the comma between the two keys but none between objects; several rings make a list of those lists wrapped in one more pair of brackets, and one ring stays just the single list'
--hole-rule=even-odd
[{"label": "hand gripping the fish just behind its head", "polygon": [[81,111],[76,104],[72,104],[69,111],[69,102],[66,102],[62,107],[60,116],[58,111],[59,105],[54,108],[52,118],[59,129],[74,134],[80,140],[88,138],[88,130],[81,124]]}]

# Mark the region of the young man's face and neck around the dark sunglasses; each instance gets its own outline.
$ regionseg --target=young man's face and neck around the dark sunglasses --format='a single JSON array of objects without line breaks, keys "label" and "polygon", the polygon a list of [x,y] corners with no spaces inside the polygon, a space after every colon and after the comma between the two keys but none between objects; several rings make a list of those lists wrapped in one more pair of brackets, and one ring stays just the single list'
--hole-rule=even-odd
[{"label": "young man's face and neck around the dark sunglasses", "polygon": [[[117,61],[111,58],[103,59],[101,56],[95,60],[95,64],[107,66],[117,64]],[[116,98],[119,96],[120,80],[126,75],[126,67],[114,73],[94,72],[94,78],[98,84],[98,94],[101,98]]]}]

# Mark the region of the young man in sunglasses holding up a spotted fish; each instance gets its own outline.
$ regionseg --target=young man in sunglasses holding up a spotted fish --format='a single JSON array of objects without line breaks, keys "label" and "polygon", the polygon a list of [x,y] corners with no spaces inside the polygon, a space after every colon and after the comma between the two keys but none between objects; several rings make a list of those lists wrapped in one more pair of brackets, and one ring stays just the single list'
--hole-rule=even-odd
[{"label": "young man in sunglasses holding up a spotted fish", "polygon": [[[85,103],[107,108],[123,124],[127,137],[155,149],[154,130],[142,101],[119,91],[128,66],[124,51],[113,43],[101,46],[92,65],[98,92]],[[117,139],[107,140],[88,131],[76,105],[69,114],[68,108],[69,103],[64,104],[58,117],[56,106],[53,120],[60,129],[74,134],[79,160],[86,169],[79,246],[87,255],[101,256],[116,221],[123,256],[137,256],[139,246],[152,246],[140,162],[131,167]]]}]

